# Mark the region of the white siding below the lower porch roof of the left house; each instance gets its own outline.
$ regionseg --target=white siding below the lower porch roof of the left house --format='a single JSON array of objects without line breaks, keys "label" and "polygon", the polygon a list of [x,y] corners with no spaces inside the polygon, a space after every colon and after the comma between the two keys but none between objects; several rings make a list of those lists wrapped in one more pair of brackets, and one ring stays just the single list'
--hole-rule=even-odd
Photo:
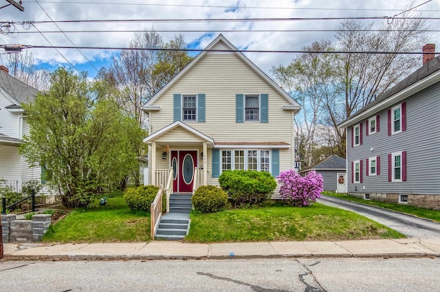
[{"label": "white siding below the lower porch roof of the left house", "polygon": [[21,167],[19,148],[0,145],[0,178],[8,181],[19,181],[21,186]]}]

